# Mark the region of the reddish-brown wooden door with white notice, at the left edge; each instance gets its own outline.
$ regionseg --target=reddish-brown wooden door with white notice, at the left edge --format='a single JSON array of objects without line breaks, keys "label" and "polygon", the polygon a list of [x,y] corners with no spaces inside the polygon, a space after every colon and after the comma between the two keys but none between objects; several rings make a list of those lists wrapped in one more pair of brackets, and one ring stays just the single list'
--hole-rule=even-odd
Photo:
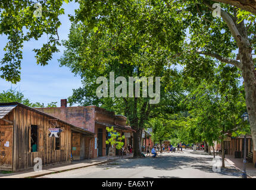
[{"label": "reddish-brown wooden door with white notice, at the left edge", "polygon": [[13,125],[0,125],[0,170],[13,170]]}]

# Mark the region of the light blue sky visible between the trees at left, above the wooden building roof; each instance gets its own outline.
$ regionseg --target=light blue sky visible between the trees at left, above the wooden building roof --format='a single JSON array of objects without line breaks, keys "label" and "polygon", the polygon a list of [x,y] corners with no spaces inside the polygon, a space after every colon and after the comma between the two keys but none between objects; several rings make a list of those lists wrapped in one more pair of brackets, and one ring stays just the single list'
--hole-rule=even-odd
[{"label": "light blue sky visible between the trees at left, above the wooden building roof", "polygon": [[[58,29],[60,42],[61,40],[68,39],[71,26],[68,14],[74,15],[74,9],[78,7],[79,4],[75,2],[63,4],[65,14],[60,16],[62,24]],[[32,50],[42,47],[43,43],[46,42],[47,37],[44,36],[38,41],[30,40],[24,43],[23,60],[21,61],[21,81],[14,85],[0,78],[0,92],[16,88],[33,103],[40,102],[47,105],[47,103],[57,102],[57,106],[60,106],[61,99],[67,99],[68,96],[73,94],[72,89],[82,86],[80,77],[75,77],[67,67],[59,66],[58,59],[63,54],[63,46],[59,48],[60,52],[54,53],[48,65],[40,66],[36,64],[35,52]],[[7,37],[0,36],[0,59],[4,56],[3,48],[6,43]]]}]

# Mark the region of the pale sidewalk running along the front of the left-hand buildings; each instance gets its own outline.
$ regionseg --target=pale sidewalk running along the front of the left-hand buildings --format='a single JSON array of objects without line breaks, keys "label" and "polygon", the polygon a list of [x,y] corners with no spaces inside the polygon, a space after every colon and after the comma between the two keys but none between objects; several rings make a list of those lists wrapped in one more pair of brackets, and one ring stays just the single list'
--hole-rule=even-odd
[{"label": "pale sidewalk running along the front of the left-hand buildings", "polygon": [[[129,157],[130,156],[124,156],[123,159],[127,159]],[[1,174],[0,178],[37,178],[39,176],[44,176],[51,173],[65,172],[96,164],[114,162],[118,159],[121,159],[121,157],[110,157],[111,161],[108,161],[108,157],[97,157],[96,159],[73,161],[72,163],[56,164],[55,166],[45,166],[40,172],[35,172],[33,169],[30,169],[22,172]]]}]

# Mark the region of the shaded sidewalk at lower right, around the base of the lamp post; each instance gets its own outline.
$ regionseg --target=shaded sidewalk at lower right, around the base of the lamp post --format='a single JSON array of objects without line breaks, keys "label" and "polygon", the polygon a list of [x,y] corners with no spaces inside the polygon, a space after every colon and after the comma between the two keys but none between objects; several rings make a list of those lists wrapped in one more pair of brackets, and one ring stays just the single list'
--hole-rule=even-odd
[{"label": "shaded sidewalk at lower right, around the base of the lamp post", "polygon": [[[235,159],[231,155],[225,154],[225,160],[239,170],[243,170],[243,159]],[[251,178],[256,178],[256,167],[254,167],[253,163],[246,163],[246,173]]]}]

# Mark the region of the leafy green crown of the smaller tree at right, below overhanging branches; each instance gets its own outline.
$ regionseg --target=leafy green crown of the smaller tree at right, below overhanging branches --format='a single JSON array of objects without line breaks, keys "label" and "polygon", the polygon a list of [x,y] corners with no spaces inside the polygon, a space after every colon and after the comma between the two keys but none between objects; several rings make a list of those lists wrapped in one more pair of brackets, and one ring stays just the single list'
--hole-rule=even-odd
[{"label": "leafy green crown of the smaller tree at right, below overhanging branches", "polygon": [[190,134],[196,142],[207,141],[213,145],[224,135],[243,130],[241,115],[246,110],[241,75],[236,68],[221,64],[215,69],[213,81],[193,85],[183,101],[194,118]]}]

